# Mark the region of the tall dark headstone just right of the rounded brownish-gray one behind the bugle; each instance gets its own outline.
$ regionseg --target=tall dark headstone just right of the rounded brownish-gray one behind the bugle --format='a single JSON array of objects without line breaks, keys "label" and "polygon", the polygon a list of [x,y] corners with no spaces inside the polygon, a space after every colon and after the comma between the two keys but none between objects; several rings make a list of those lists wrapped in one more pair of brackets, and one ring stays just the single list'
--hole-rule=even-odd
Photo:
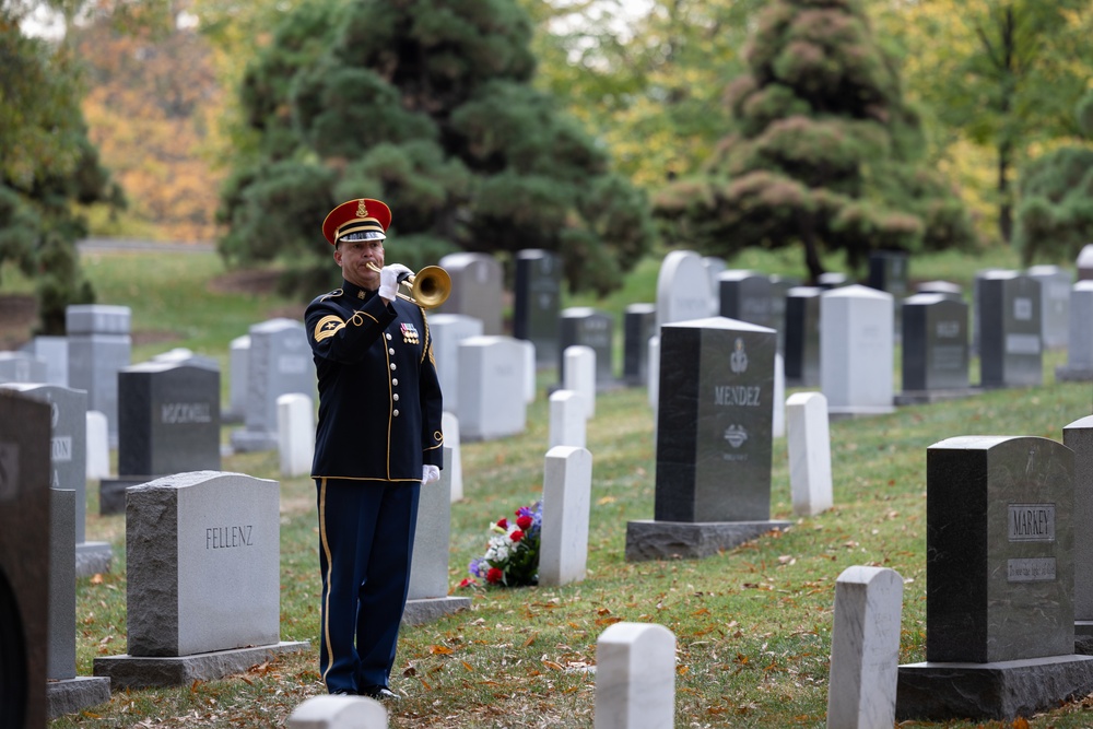
[{"label": "tall dark headstone just right of the rounded brownish-gray one behind the bugle", "polygon": [[557,365],[561,310],[562,262],[557,256],[549,250],[518,251],[513,290],[513,336],[536,345],[539,367]]}]

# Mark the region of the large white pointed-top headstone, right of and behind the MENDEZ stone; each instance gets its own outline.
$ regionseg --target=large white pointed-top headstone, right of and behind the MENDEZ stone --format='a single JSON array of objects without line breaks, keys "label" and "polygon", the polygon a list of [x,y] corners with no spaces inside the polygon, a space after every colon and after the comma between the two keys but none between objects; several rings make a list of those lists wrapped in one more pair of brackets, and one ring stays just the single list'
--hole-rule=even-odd
[{"label": "large white pointed-top headstone, right of and behind the MENDEZ stone", "polygon": [[858,284],[820,296],[820,383],[833,413],[893,408],[892,294]]}]

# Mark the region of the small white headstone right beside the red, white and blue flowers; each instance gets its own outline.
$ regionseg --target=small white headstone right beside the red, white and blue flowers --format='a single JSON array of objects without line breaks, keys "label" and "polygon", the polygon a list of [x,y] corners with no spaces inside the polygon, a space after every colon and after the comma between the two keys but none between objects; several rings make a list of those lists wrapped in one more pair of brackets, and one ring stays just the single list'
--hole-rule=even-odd
[{"label": "small white headstone right beside the red, white and blue flowers", "polygon": [[585,578],[591,492],[592,455],[588,450],[555,446],[546,451],[540,585],[568,585]]}]

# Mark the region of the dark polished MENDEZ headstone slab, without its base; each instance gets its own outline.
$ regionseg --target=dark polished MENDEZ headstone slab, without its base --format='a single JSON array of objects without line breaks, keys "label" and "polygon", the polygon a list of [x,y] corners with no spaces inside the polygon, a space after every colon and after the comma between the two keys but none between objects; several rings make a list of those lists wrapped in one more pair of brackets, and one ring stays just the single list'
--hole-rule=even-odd
[{"label": "dark polished MENDEZ headstone slab, without its base", "polygon": [[661,327],[658,521],[769,518],[775,346],[724,317]]}]

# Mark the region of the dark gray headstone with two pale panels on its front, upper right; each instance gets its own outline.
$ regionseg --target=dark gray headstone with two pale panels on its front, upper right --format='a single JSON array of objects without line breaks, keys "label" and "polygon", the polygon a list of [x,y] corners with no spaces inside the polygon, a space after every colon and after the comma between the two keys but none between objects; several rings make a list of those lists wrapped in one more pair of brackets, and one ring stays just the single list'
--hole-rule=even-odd
[{"label": "dark gray headstone with two pale panels on its front, upper right", "polygon": [[984,387],[1036,386],[1044,378],[1039,282],[1015,271],[979,280],[979,369]]}]

